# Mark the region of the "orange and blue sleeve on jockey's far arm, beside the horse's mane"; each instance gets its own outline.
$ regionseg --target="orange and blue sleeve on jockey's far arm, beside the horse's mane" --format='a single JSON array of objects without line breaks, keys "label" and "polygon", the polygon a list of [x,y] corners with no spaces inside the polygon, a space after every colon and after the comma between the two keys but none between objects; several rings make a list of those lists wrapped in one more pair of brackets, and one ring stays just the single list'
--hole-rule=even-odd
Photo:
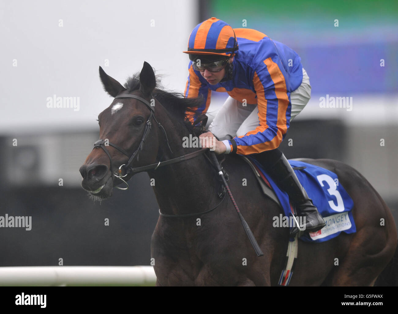
[{"label": "orange and blue sleeve on jockey's far arm, beside the horse's mane", "polygon": [[185,85],[184,96],[185,98],[196,98],[200,95],[203,97],[203,102],[199,107],[194,107],[197,111],[197,114],[194,115],[193,113],[186,111],[185,116],[193,123],[197,116],[201,115],[202,113],[206,113],[209,109],[210,99],[211,99],[211,90],[207,86],[205,82],[202,82],[199,76],[196,74],[195,70],[192,67],[192,61],[189,62],[188,66],[189,75],[187,79],[187,84]]}]

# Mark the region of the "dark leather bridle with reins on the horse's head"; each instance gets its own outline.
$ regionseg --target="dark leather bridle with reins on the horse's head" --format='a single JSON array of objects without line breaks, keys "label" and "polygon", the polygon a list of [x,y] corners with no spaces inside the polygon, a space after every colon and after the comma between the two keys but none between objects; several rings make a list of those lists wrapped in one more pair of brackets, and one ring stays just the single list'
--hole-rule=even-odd
[{"label": "dark leather bridle with reins on the horse's head", "polygon": [[[137,96],[137,95],[133,95],[133,94],[121,94],[121,95],[117,95],[115,97],[115,99],[116,98],[134,98],[134,99],[137,99],[140,102],[144,103],[146,105],[146,107],[148,107],[150,109],[150,116],[148,118],[148,121],[146,121],[146,123],[145,123],[144,134],[142,135],[142,138],[141,138],[141,141],[140,141],[140,144],[139,144],[137,150],[135,150],[135,152],[133,152],[133,155],[129,156],[129,153],[126,152],[123,148],[121,148],[121,147],[119,147],[119,146],[117,146],[117,145],[115,145],[115,144],[113,144],[113,143],[111,143],[111,142],[109,142],[109,141],[107,141],[105,139],[99,139],[98,141],[96,141],[94,143],[94,148],[100,148],[101,147],[104,150],[104,152],[108,155],[109,162],[110,162],[110,170],[111,171],[112,171],[112,158],[111,158],[111,154],[109,154],[109,151],[106,149],[105,146],[109,146],[110,145],[113,148],[117,149],[122,154],[124,154],[127,157],[129,157],[129,161],[127,162],[127,164],[122,164],[119,167],[119,170],[117,170],[117,172],[113,173],[113,176],[115,176],[118,179],[120,179],[121,181],[123,181],[123,183],[126,184],[126,187],[115,186],[116,188],[118,188],[120,190],[127,190],[129,188],[129,184],[123,179],[124,177],[126,177],[129,174],[135,174],[135,173],[146,171],[146,170],[150,170],[150,169],[156,170],[158,167],[166,166],[168,164],[174,164],[175,162],[181,162],[183,160],[187,160],[187,159],[199,156],[200,154],[203,154],[204,152],[207,151],[207,149],[201,149],[201,150],[197,150],[195,152],[192,152],[190,154],[186,154],[186,155],[183,155],[183,156],[179,156],[177,158],[166,160],[164,162],[160,162],[159,161],[158,163],[155,163],[155,164],[150,164],[150,165],[147,165],[147,166],[133,168],[131,165],[133,164],[133,162],[134,162],[134,160],[136,158],[138,160],[139,151],[142,150],[142,148],[144,146],[144,142],[145,142],[146,138],[148,137],[150,129],[152,127],[151,119],[153,119],[156,122],[156,124],[158,125],[158,127],[160,127],[160,129],[162,130],[164,136],[166,137],[166,143],[167,143],[167,146],[168,146],[170,152],[173,152],[173,151],[170,148],[169,140],[168,140],[168,137],[167,137],[167,134],[166,134],[166,130],[159,123],[159,121],[156,120],[154,105],[153,106],[150,105],[150,103],[146,99],[144,99],[144,98],[142,98],[140,96]],[[155,98],[152,97],[152,99],[155,99]],[[123,172],[124,172],[124,174],[123,174]]]}]

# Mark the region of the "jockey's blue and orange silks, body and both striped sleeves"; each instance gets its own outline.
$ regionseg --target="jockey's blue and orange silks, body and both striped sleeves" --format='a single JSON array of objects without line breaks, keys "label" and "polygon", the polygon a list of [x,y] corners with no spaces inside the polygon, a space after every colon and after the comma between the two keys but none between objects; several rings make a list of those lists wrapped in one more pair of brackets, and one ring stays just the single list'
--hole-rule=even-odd
[{"label": "jockey's blue and orange silks, body and both striped sleeves", "polygon": [[[290,93],[302,82],[301,59],[289,47],[259,31],[236,28],[234,32],[239,50],[232,62],[232,80],[211,85],[190,61],[185,97],[203,96],[202,105],[194,108],[199,114],[207,112],[212,90],[226,92],[241,103],[257,104],[259,125],[244,136],[234,137],[236,153],[247,155],[277,148],[289,128]],[[191,122],[196,117],[187,116]]]}]

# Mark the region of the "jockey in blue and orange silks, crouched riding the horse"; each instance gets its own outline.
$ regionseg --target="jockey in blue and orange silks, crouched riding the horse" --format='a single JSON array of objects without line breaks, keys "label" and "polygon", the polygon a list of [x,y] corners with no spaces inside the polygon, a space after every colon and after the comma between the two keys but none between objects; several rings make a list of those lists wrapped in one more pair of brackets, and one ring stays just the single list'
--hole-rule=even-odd
[{"label": "jockey in blue and orange silks, crouched riding the horse", "polygon": [[[254,29],[232,29],[210,18],[189,36],[189,76],[185,97],[203,96],[203,104],[187,111],[187,118],[206,113],[211,91],[229,97],[200,136],[202,147],[213,137],[216,154],[250,155],[258,160],[275,183],[304,216],[305,231],[322,229],[325,222],[297,179],[286,157],[278,149],[290,121],[310,99],[311,86],[301,59],[289,47]],[[214,136],[217,136],[217,140]],[[292,234],[298,231],[293,228]]]}]

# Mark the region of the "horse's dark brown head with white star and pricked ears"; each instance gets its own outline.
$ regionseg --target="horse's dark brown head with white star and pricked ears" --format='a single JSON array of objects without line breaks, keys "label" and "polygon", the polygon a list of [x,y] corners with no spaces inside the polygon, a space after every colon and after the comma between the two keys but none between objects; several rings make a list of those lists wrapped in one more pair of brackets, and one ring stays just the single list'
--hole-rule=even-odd
[{"label": "horse's dark brown head with white star and pricked ears", "polygon": [[139,86],[133,92],[101,67],[100,78],[105,91],[115,99],[98,115],[100,140],[80,167],[82,187],[95,199],[111,196],[113,187],[122,183],[120,178],[130,179],[133,174],[127,172],[131,164],[139,167],[154,163],[159,149],[159,128],[151,127],[155,119],[151,94],[156,78],[150,64],[144,62]]}]

